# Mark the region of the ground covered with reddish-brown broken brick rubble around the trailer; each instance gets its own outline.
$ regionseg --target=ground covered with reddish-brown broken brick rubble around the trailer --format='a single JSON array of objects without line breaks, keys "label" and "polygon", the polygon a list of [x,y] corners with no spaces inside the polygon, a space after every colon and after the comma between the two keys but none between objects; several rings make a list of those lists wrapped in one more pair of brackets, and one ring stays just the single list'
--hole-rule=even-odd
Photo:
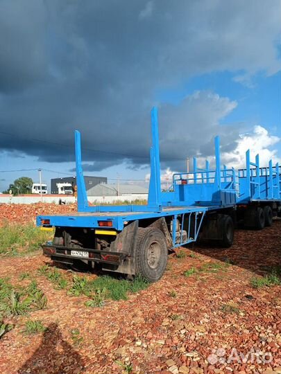
[{"label": "ground covered with reddish-brown broken brick rubble around the trailer", "polygon": [[[43,207],[28,209],[34,220]],[[8,214],[17,221],[18,212],[0,216]],[[281,373],[281,286],[250,285],[281,265],[281,221],[237,230],[230,249],[196,244],[183,251],[185,257],[169,256],[159,282],[102,308],[87,308],[85,296],[69,296],[38,275],[50,262],[41,254],[1,258],[1,278],[24,285],[19,274],[28,271],[48,303],[14,317],[15,328],[0,339],[0,373]],[[24,335],[31,318],[48,329]]]}]

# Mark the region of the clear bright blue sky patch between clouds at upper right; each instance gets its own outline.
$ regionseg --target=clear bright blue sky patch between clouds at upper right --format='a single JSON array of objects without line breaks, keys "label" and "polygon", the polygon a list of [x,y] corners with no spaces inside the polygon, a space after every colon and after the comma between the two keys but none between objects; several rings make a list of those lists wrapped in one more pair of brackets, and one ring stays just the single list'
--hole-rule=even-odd
[{"label": "clear bright blue sky patch between clouds at upper right", "polygon": [[[245,123],[247,127],[264,125],[273,134],[281,137],[281,72],[267,76],[257,73],[250,82],[235,82],[234,78],[243,71],[214,72],[196,76],[174,89],[157,91],[160,102],[179,104],[182,98],[194,91],[214,91],[219,96],[236,100],[237,107],[223,119],[223,124]],[[250,85],[249,85],[250,84]],[[278,144],[281,150],[281,144]]]}]

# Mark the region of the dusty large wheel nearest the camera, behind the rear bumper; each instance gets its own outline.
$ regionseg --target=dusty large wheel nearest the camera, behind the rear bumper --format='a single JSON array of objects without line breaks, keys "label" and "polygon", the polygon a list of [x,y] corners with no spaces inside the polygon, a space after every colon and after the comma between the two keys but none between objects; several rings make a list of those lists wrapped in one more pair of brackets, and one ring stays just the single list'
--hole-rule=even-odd
[{"label": "dusty large wheel nearest the camera, behind the rear bumper", "polygon": [[156,282],[167,266],[167,242],[162,231],[148,227],[139,228],[135,250],[135,273],[149,282]]}]

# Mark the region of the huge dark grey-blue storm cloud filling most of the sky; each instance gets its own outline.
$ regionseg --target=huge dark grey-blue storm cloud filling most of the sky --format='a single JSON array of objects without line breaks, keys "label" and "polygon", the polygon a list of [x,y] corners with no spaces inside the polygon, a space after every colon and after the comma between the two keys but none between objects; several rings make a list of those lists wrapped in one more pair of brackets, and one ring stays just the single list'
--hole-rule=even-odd
[{"label": "huge dark grey-blue storm cloud filling most of the sky", "polygon": [[[147,163],[157,90],[212,71],[280,69],[278,0],[2,0],[0,8],[0,131],[14,134],[1,134],[0,148],[73,161],[78,128],[87,171]],[[213,154],[215,134],[232,150],[237,128],[220,124],[235,105],[205,91],[159,105],[163,164]]]}]

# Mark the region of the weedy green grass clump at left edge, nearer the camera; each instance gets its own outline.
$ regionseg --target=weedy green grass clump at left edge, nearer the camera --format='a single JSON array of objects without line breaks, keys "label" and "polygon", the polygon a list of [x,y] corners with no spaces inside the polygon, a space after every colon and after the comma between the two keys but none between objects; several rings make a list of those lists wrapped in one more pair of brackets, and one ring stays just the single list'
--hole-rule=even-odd
[{"label": "weedy green grass clump at left edge, nearer the camera", "polygon": [[47,303],[46,296],[31,281],[28,287],[14,287],[8,278],[0,278],[0,314],[2,317],[27,314],[32,310],[41,310]]}]

